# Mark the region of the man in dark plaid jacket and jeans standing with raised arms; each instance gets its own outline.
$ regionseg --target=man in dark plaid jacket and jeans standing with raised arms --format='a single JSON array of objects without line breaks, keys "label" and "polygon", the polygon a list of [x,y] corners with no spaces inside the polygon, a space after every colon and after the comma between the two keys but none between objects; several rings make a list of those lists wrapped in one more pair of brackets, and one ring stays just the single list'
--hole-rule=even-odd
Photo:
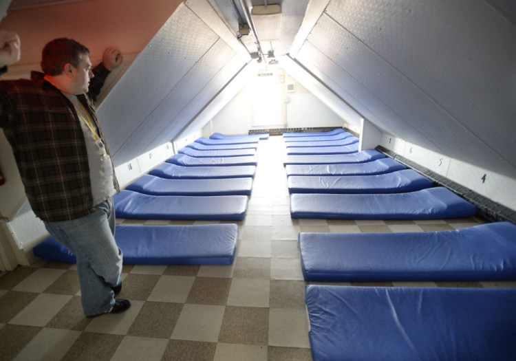
[{"label": "man in dark plaid jacket and jeans standing with raised arms", "polygon": [[[0,32],[0,72],[19,60],[16,34]],[[32,210],[74,252],[86,316],[118,314],[122,252],[114,240],[112,196],[119,190],[93,105],[122,54],[108,48],[94,69],[72,39],[43,48],[43,73],[0,81],[0,127],[12,146]],[[91,80],[91,84],[90,84]]]}]

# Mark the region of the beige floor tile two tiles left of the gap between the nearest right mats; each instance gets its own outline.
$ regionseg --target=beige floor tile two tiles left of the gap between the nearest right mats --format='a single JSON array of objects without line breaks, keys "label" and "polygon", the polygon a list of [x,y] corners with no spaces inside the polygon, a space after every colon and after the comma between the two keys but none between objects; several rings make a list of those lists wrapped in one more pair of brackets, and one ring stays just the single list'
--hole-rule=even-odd
[{"label": "beige floor tile two tiles left of the gap between the nearest right mats", "polygon": [[243,307],[269,307],[269,294],[269,280],[233,278],[227,304]]}]

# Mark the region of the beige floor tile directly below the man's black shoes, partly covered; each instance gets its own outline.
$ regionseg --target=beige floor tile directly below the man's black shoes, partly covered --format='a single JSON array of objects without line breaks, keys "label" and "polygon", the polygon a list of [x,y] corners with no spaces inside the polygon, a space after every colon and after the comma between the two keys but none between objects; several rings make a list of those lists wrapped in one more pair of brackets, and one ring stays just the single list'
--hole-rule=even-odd
[{"label": "beige floor tile directly below the man's black shoes, partly covered", "polygon": [[85,331],[95,333],[109,333],[111,335],[125,335],[142,309],[144,302],[133,300],[131,307],[121,314],[105,314],[89,322]]}]

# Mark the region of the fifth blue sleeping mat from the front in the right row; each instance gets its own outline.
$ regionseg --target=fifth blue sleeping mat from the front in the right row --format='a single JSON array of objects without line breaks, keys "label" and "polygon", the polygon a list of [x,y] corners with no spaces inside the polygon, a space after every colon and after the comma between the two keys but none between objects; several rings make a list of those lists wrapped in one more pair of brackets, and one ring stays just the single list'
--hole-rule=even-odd
[{"label": "fifth blue sleeping mat from the front in the right row", "polygon": [[355,164],[290,164],[285,167],[288,177],[292,175],[375,175],[402,169],[405,169],[405,166],[392,158]]}]

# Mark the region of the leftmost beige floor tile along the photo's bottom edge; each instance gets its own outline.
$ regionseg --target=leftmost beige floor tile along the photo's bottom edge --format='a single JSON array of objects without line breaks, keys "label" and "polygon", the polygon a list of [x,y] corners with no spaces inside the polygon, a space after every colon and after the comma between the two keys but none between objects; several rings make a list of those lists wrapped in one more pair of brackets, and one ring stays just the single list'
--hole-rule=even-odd
[{"label": "leftmost beige floor tile along the photo's bottom edge", "polygon": [[80,331],[41,329],[14,358],[14,361],[61,360],[79,336]]}]

